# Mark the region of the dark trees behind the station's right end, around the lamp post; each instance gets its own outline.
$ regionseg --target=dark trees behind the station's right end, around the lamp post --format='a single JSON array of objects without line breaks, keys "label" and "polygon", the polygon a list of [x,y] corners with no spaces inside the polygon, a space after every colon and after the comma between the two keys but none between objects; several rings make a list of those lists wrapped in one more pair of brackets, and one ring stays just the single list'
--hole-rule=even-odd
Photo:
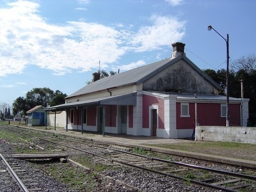
[{"label": "dark trees behind the station's right end, around the lamp post", "polygon": [[[225,95],[226,70],[203,70],[209,77],[215,80],[222,90],[220,95]],[[230,97],[241,97],[241,80],[244,84],[244,98],[249,98],[249,118],[252,124],[256,124],[256,56],[249,54],[230,63],[228,76],[228,88]]]}]

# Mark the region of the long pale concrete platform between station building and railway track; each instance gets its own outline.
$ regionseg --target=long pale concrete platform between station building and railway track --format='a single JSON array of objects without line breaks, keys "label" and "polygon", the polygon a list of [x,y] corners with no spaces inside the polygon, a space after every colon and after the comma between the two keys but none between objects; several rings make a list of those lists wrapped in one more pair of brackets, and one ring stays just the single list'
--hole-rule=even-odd
[{"label": "long pale concrete platform between station building and railway track", "polygon": [[[30,129],[38,130],[33,127],[31,127]],[[166,139],[166,138],[158,138],[153,136],[132,136],[132,135],[126,135],[126,134],[108,134],[108,133],[105,133],[104,136],[102,136],[102,133],[99,133],[99,132],[85,131],[82,134],[81,131],[74,131],[74,130],[66,131],[66,129],[56,129],[56,130],[44,129],[41,131],[61,134],[67,137],[77,137],[77,138],[90,140],[94,142],[105,142],[113,145],[129,146],[129,147],[141,147],[141,148],[144,148],[145,150],[150,150],[153,152],[160,152],[160,153],[166,153],[169,155],[178,155],[183,157],[191,157],[199,160],[203,159],[208,161],[218,161],[218,162],[226,163],[230,165],[237,165],[237,166],[250,167],[250,168],[256,169],[256,161],[149,146],[149,144],[172,144],[172,143],[180,143],[180,142],[187,142],[187,143],[195,142],[195,141],[186,140],[186,139]]]}]

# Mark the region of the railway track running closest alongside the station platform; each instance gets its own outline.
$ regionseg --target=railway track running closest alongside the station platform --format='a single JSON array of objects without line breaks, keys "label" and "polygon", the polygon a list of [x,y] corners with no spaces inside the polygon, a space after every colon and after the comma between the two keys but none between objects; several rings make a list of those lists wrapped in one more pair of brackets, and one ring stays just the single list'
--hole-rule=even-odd
[{"label": "railway track running closest alongside the station platform", "polygon": [[[95,145],[84,141],[74,141],[62,138],[59,135],[43,134],[31,130],[28,131],[20,127],[18,131],[11,127],[6,127],[6,129],[36,138],[37,140],[51,142],[58,147],[72,148],[72,150],[87,153],[97,157],[96,161],[98,163],[106,165],[113,165],[115,163],[122,166],[133,167],[215,190],[238,191],[240,188],[255,186],[256,182],[255,173],[251,176],[195,164],[181,163],[174,159],[148,157],[109,146]],[[40,135],[40,137],[38,137],[38,135]],[[205,175],[208,175],[208,177],[205,178]]]}]

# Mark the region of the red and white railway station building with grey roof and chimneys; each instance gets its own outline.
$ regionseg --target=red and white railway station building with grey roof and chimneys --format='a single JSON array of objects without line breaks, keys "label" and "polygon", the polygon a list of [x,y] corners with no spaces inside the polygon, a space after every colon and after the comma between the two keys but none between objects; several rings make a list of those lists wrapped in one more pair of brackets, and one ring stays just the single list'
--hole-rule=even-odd
[{"label": "red and white railway station building with grey roof and chimneys", "polygon": [[[94,73],[65,104],[44,110],[65,111],[67,130],[103,134],[188,138],[195,118],[200,125],[225,126],[221,87],[186,57],[185,44],[172,46],[170,58],[101,79]],[[229,97],[230,125],[246,126],[248,102]]]}]

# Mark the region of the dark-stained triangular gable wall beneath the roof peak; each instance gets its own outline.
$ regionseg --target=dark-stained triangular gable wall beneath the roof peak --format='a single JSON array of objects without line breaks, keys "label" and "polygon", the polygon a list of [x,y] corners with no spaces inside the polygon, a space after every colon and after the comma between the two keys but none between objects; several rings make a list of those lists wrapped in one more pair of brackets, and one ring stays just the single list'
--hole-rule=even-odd
[{"label": "dark-stained triangular gable wall beneath the roof peak", "polygon": [[214,86],[180,60],[143,82],[145,91],[214,94]]}]

